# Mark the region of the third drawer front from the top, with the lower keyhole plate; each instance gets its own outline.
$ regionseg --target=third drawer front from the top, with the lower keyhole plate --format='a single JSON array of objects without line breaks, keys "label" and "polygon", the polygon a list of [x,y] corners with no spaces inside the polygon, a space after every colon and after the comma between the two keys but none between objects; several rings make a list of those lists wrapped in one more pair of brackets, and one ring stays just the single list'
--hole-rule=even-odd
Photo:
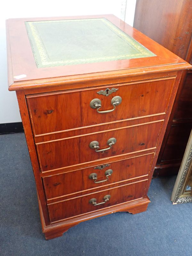
[{"label": "third drawer front from the top, with the lower keyhole plate", "polygon": [[[108,186],[144,175],[147,177],[153,156],[154,153],[151,153],[108,163],[108,166],[100,164],[73,172],[45,177],[43,181],[46,197],[50,199],[100,186]],[[109,173],[110,175],[108,175]],[[94,180],[93,178],[95,177],[96,179]]]}]

